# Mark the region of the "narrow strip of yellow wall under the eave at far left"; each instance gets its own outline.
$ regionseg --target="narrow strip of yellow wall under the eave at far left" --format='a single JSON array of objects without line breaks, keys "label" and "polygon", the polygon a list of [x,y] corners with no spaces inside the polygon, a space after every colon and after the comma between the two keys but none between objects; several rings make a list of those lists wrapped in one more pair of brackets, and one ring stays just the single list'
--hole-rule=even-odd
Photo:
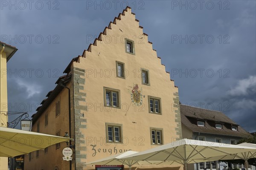
[{"label": "narrow strip of yellow wall under the eave at far left", "polygon": [[[0,126],[7,127],[8,122],[8,98],[7,98],[7,62],[6,53],[1,55],[1,70],[0,70]],[[8,158],[0,157],[0,170],[8,169]]]}]

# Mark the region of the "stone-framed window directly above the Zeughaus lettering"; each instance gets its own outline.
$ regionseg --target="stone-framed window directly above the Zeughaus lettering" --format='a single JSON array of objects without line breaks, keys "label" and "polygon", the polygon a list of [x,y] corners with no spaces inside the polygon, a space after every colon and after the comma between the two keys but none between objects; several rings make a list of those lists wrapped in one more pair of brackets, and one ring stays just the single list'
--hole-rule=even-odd
[{"label": "stone-framed window directly above the Zeughaus lettering", "polygon": [[106,123],[107,142],[122,143],[122,125]]}]

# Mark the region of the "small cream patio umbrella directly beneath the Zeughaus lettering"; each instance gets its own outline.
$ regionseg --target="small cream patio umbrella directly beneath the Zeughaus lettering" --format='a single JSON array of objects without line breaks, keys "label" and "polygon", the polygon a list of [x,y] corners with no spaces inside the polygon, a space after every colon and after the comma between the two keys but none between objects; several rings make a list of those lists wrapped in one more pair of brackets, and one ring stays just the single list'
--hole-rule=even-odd
[{"label": "small cream patio umbrella directly beneath the Zeughaus lettering", "polygon": [[129,169],[131,170],[131,166],[134,164],[138,164],[138,165],[142,165],[142,164],[154,164],[154,163],[160,163],[161,161],[136,161],[136,160],[125,160],[122,159],[125,156],[130,156],[134,153],[138,153],[136,151],[132,151],[132,150],[128,150],[127,152],[124,153],[119,153],[113,156],[109,156],[103,159],[99,159],[96,161],[92,161],[89,163],[86,163],[86,165],[88,164],[94,164],[94,165],[128,165]]}]

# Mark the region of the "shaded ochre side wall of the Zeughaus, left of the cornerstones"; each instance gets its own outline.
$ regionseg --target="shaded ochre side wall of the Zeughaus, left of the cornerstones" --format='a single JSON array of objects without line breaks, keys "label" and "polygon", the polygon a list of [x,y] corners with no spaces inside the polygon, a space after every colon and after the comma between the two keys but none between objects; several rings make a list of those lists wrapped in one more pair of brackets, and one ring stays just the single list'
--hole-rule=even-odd
[{"label": "shaded ochre side wall of the Zeughaus, left of the cornerstones", "polygon": [[[55,103],[60,102],[60,114],[55,116]],[[48,113],[48,125],[45,126],[45,115]],[[32,125],[32,131],[37,132],[39,122],[39,132],[50,135],[56,135],[60,131],[60,136],[64,136],[65,132],[69,133],[69,117],[68,117],[68,91],[63,89],[58,96],[51,102],[47,109],[41,114],[39,119]],[[39,156],[36,151],[32,152],[32,159],[29,161],[29,155],[25,155],[25,170],[69,170],[69,162],[63,161],[62,149],[67,147],[66,142],[60,143],[60,147],[56,149],[56,145],[48,147],[48,152],[39,150]],[[74,164],[73,164],[74,168]]]}]

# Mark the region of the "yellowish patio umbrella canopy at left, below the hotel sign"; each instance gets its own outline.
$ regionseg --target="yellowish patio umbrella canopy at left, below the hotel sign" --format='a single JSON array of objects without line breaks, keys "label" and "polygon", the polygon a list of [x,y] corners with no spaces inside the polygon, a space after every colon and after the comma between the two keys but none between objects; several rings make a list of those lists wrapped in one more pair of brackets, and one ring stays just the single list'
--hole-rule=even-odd
[{"label": "yellowish patio umbrella canopy at left, below the hotel sign", "polygon": [[64,141],[73,140],[61,136],[0,127],[0,157],[15,157]]}]

